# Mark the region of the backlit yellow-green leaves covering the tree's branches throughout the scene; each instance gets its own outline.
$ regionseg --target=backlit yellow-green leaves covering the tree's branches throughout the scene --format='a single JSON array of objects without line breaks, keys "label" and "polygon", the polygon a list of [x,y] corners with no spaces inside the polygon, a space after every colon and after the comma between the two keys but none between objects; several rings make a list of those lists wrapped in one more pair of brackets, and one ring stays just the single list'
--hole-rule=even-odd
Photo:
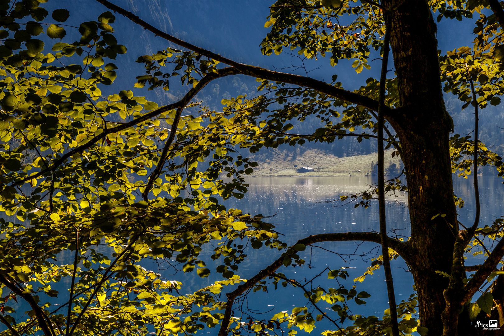
[{"label": "backlit yellow-green leaves covering the tree's branches throughout the scene", "polygon": [[[114,35],[116,16],[105,11],[96,21],[72,27],[64,24],[71,14],[68,10],[49,13],[42,5],[45,2],[0,3],[0,210],[5,214],[0,218],[0,320],[6,326],[0,334],[168,335],[220,324],[221,332],[264,335],[266,331],[282,333],[284,328],[292,334],[295,327],[311,331],[323,318],[338,329],[325,331],[326,335],[390,333],[390,312],[377,318],[349,311],[348,301],[363,304],[362,299],[369,296],[358,293],[356,286],[305,288],[301,280],[276,273],[281,265],[303,264],[297,253],[314,242],[379,243],[377,234],[313,235],[299,237],[297,244],[288,246],[262,216],[219,204],[219,199],[243,197],[244,175],[257,166],[241,156],[239,149],[257,153],[282,144],[375,139],[379,81],[370,78],[349,92],[336,75],[327,84],[233,63],[156,32],[185,49],[139,55],[137,62],[145,65],[146,72],[131,85],[169,90],[175,78],[187,87],[185,96],[161,107],[134,96],[131,90],[104,96],[102,90],[117,77],[114,60],[127,52]],[[432,1],[429,6],[437,21],[480,15],[473,47],[439,55],[445,92],[455,94],[464,108],[474,99],[473,106],[479,108],[499,105],[504,90],[503,31],[498,15],[485,10],[489,2]],[[133,15],[127,17],[155,30]],[[351,22],[340,25],[343,17]],[[351,59],[357,73],[369,69],[369,55],[381,51],[385,34],[382,6],[368,1],[279,2],[272,6],[266,27],[272,30],[261,44],[263,53],[290,49],[308,58],[325,56],[332,65]],[[78,31],[80,40],[69,41],[68,30]],[[222,110],[217,111],[194,101],[211,81],[236,74],[258,78],[256,97],[223,100]],[[385,102],[390,110],[401,108],[398,85],[395,77],[387,80]],[[184,114],[184,109],[198,113]],[[318,129],[290,133],[293,123],[311,117],[320,120]],[[394,155],[403,157],[407,153],[392,128],[389,124],[386,129],[387,148],[395,148]],[[471,174],[472,139],[451,138],[453,172]],[[495,166],[495,174],[504,174],[501,158],[482,143],[478,144],[478,165]],[[408,190],[400,179],[387,183],[387,190]],[[375,193],[373,187],[342,199],[350,196],[357,200],[356,206],[367,208]],[[462,205],[459,199],[455,201]],[[476,289],[487,288],[504,273],[493,272],[500,260],[502,227],[499,218],[491,227],[479,228],[469,238],[469,247],[463,247],[466,252],[480,248],[488,260],[490,254],[497,258],[491,259],[485,284]],[[494,240],[499,243],[493,244]],[[402,256],[405,245],[401,244],[405,243],[390,238],[391,257]],[[279,259],[262,265],[262,271],[258,268],[254,278],[241,279],[239,264],[246,249],[261,247],[277,251]],[[213,251],[212,265],[199,257],[205,248]],[[55,260],[61,252],[71,252],[67,264]],[[366,274],[380,268],[382,261],[381,256],[373,260]],[[153,265],[152,269],[141,262]],[[220,273],[223,280],[183,295],[182,283],[161,278],[157,265],[163,262],[179,263],[184,272],[202,278]],[[438,272],[440,277],[456,276]],[[329,279],[348,277],[343,268],[326,273]],[[356,281],[364,281],[366,274]],[[279,282],[284,287],[301,287],[311,305],[325,301],[334,313],[302,306],[262,321],[230,317],[234,300],[249,290],[276,288]],[[241,285],[232,286],[237,284]],[[58,305],[44,302],[47,296],[58,298]],[[471,297],[462,302],[471,319],[481,312],[488,316],[499,312],[502,318],[502,303],[491,291],[475,303],[470,303]],[[9,305],[18,299],[30,306],[27,315],[21,316]],[[413,294],[398,305],[404,334],[428,332],[415,318],[417,300]],[[343,325],[345,320],[352,323]]]}]

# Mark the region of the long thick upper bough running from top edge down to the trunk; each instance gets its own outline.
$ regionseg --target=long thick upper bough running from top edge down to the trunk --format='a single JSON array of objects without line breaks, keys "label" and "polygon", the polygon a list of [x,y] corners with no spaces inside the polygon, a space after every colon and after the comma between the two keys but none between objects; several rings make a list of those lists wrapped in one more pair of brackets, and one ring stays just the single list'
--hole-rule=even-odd
[{"label": "long thick upper bough running from top edge down to the trunk", "polygon": [[[325,82],[318,81],[318,80],[315,80],[315,79],[312,79],[309,77],[280,73],[280,72],[270,71],[270,70],[267,70],[264,68],[260,68],[259,66],[238,63],[232,59],[223,57],[219,54],[213,53],[209,50],[200,48],[200,47],[195,46],[191,43],[187,43],[187,42],[180,40],[174,36],[171,36],[163,31],[151,26],[150,24],[143,21],[142,19],[140,19],[138,16],[134,15],[133,13],[128,12],[128,11],[120,8],[119,6],[116,6],[106,0],[96,0],[96,1],[98,1],[100,4],[102,4],[106,8],[127,17],[128,19],[130,19],[134,23],[144,27],[145,29],[153,32],[157,36],[164,38],[165,40],[173,42],[173,43],[175,43],[181,47],[184,47],[186,49],[195,51],[195,52],[199,53],[200,55],[210,57],[210,58],[218,60],[219,62],[222,62],[224,64],[233,66],[234,68],[236,68],[240,72],[240,74],[252,76],[252,77],[256,77],[256,78],[261,78],[261,79],[265,79],[265,80],[270,80],[270,81],[283,82],[283,83],[298,85],[301,87],[307,87],[307,88],[310,88],[313,90],[317,90],[321,93],[327,94],[328,96],[339,98],[339,99],[345,100],[345,101],[353,103],[353,104],[361,105],[361,106],[364,106],[364,107],[369,108],[374,111],[378,110],[378,102],[375,101],[374,99],[364,97],[364,96],[361,96],[359,94],[356,94],[356,93],[353,93],[353,92],[350,92],[347,90],[336,88],[330,84],[327,84]],[[393,110],[391,108],[386,108],[384,110],[384,112],[385,112],[386,116],[393,115]]]}]

